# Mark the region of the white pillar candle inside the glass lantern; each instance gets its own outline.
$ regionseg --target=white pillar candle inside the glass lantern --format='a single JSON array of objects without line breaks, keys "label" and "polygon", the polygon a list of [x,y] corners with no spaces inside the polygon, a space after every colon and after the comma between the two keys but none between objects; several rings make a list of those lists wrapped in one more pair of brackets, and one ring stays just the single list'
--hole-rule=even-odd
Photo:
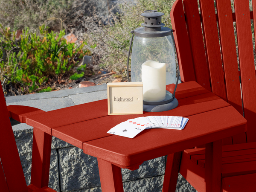
[{"label": "white pillar candle inside the glass lantern", "polygon": [[166,96],[166,64],[146,61],[142,64],[143,100],[160,102]]}]

